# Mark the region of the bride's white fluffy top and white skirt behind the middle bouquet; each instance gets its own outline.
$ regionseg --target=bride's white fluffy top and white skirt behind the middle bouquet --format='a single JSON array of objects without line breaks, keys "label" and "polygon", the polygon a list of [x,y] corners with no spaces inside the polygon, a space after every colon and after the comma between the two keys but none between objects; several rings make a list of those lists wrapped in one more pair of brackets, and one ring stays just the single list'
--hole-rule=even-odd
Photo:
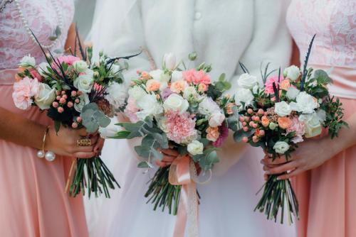
[{"label": "bride's white fluffy top and white skirt behind the middle bouquet", "polygon": [[[284,67],[290,60],[291,42],[285,23],[288,1],[99,0],[97,5],[92,31],[96,50],[117,56],[143,47],[158,67],[164,53],[187,59],[196,51],[197,64],[212,64],[212,78],[217,79],[221,72],[231,78],[231,94],[241,74],[239,61],[252,74],[260,75],[261,62]],[[150,69],[144,53],[130,60],[127,81],[137,69]],[[103,159],[122,189],[112,192],[111,199],[86,200],[93,237],[172,236],[175,216],[153,211],[152,204],[145,203],[146,183],[155,170],[143,174],[137,168],[133,143],[105,141]],[[198,185],[200,236],[295,236],[293,226],[275,224],[253,212],[260,197],[255,194],[263,185],[262,150],[241,149],[230,140],[220,156],[225,165],[213,170],[209,184]]]}]

